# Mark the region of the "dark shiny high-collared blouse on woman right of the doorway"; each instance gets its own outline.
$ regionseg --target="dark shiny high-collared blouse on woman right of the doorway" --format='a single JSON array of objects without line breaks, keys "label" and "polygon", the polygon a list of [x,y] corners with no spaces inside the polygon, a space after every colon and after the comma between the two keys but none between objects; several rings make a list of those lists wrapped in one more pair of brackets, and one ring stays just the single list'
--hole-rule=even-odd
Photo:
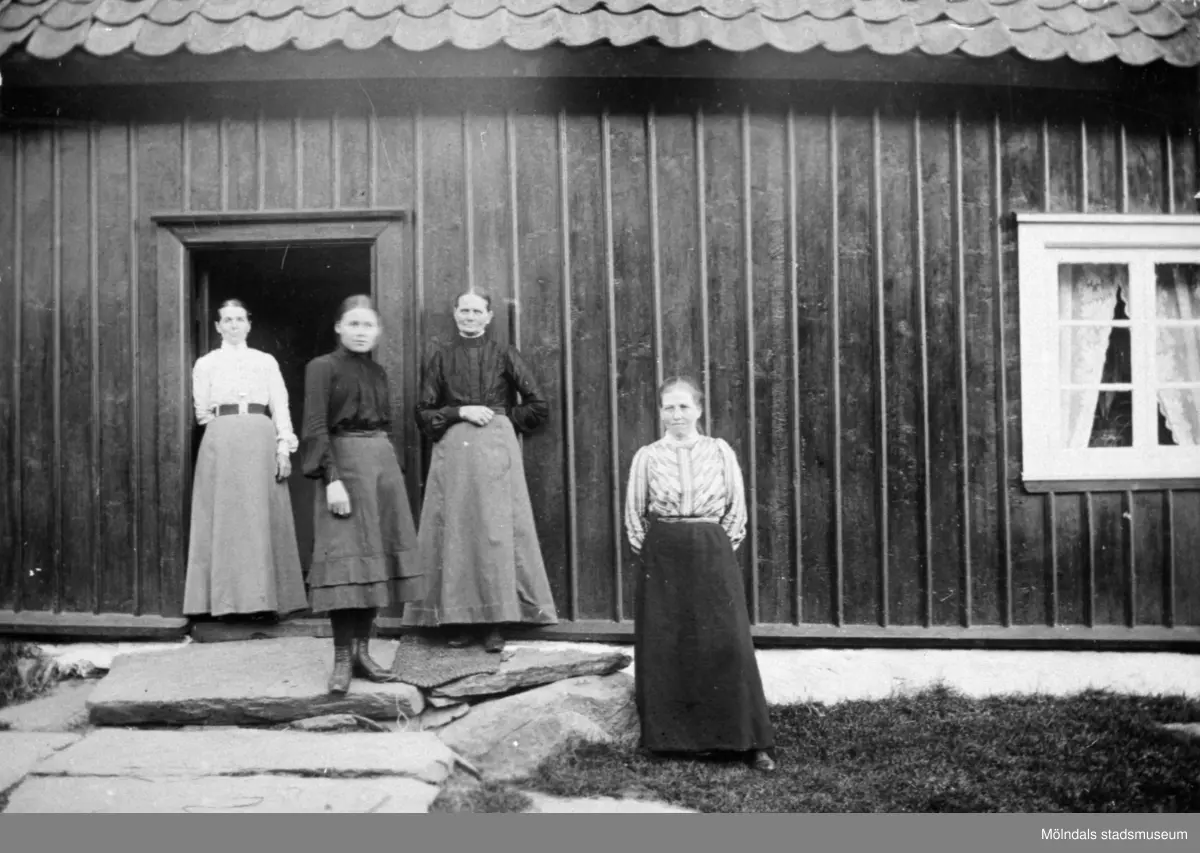
[{"label": "dark shiny high-collared blouse on woman right of the doorway", "polygon": [[462,420],[464,406],[486,406],[508,415],[518,433],[530,433],[550,418],[550,406],[517,348],[498,344],[486,334],[460,335],[433,352],[425,365],[416,422],[437,441]]}]

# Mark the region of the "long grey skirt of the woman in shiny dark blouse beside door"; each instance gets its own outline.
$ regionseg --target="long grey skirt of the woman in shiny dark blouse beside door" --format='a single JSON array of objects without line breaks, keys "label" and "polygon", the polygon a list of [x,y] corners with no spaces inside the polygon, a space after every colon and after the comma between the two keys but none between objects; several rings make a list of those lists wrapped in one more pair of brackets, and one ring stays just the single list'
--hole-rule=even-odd
[{"label": "long grey skirt of the woman in shiny dark blouse beside door", "polygon": [[403,624],[558,621],[506,416],[456,424],[433,446],[418,539],[427,591],[404,607]]}]

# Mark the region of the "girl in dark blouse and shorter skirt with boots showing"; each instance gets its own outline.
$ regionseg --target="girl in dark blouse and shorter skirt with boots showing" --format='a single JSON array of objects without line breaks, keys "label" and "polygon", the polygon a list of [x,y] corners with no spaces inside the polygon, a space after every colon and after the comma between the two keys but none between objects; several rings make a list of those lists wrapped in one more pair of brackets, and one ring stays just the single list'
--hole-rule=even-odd
[{"label": "girl in dark blouse and shorter skirt with boots showing", "polygon": [[416,530],[396,451],[388,437],[388,376],[370,353],[379,318],[366,296],[350,296],[337,313],[338,347],[305,372],[301,464],[320,480],[311,607],[328,612],[334,629],[329,691],[344,693],[352,677],[395,680],[368,651],[376,612],[420,593],[413,558]]}]

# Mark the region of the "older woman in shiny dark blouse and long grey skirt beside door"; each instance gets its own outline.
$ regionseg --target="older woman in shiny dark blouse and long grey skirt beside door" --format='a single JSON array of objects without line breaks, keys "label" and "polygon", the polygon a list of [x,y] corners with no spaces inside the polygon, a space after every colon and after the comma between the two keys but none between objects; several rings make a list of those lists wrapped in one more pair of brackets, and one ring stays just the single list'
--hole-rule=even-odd
[{"label": "older woman in shiny dark blouse and long grey skirt beside door", "polygon": [[546,422],[550,407],[521,353],[486,336],[491,320],[488,296],[458,296],[458,336],[425,367],[416,421],[434,443],[419,535],[427,583],[403,621],[456,626],[457,647],[484,629],[484,647],[500,651],[500,625],[553,625],[558,617],[517,443],[517,433]]}]

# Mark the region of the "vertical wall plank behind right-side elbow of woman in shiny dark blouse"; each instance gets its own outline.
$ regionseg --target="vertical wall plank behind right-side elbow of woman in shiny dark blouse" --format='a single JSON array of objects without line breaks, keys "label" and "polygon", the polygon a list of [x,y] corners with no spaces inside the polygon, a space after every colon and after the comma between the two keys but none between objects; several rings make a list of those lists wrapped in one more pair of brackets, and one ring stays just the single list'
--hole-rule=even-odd
[{"label": "vertical wall plank behind right-side elbow of woman in shiny dark blouse", "polygon": [[563,400],[563,274],[558,126],[553,115],[515,114],[521,352],[550,401],[550,424],[524,441],[526,477],[559,619],[569,619],[566,404]]}]

